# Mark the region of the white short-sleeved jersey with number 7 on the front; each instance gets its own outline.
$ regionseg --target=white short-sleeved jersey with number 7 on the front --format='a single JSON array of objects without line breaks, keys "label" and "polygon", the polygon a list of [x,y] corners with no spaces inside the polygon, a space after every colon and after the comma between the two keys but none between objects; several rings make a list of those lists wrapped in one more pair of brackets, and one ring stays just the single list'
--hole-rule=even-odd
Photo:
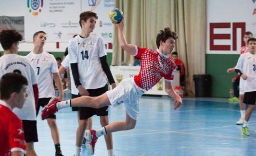
[{"label": "white short-sleeved jersey with number 7 on the front", "polygon": [[58,72],[58,65],[54,56],[46,51],[41,54],[35,54],[31,51],[26,55],[26,58],[31,61],[36,73],[39,98],[55,96],[52,73]]}]

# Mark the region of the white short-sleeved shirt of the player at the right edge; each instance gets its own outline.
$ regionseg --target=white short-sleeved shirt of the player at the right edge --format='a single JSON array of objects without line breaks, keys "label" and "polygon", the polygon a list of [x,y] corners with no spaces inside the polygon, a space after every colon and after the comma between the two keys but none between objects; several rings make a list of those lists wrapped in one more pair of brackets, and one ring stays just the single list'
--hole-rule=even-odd
[{"label": "white short-sleeved shirt of the player at the right edge", "polygon": [[[242,54],[238,59],[235,69],[239,69],[248,77],[244,80],[244,93],[256,91],[256,54],[253,55],[250,52]],[[243,78],[241,77],[240,79]]]}]

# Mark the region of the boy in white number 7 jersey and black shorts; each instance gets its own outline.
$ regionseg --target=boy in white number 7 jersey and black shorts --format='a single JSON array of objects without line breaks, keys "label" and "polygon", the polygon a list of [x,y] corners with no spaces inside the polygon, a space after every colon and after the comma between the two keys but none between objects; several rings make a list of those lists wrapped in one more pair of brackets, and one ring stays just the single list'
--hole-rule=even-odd
[{"label": "boy in white number 7 jersey and black shorts", "polygon": [[[63,98],[62,81],[58,72],[57,61],[54,56],[44,51],[43,46],[46,40],[46,33],[38,31],[33,36],[34,49],[26,55],[31,61],[31,64],[36,73],[39,89],[39,99],[37,107],[37,115],[40,106],[44,107],[49,102],[51,97],[55,96],[55,90],[53,86],[53,79],[57,85],[60,93],[59,98]],[[55,156],[63,156],[61,154],[59,132],[56,123],[56,115],[51,114],[47,119],[48,125],[51,129],[51,137],[55,145]]]}]

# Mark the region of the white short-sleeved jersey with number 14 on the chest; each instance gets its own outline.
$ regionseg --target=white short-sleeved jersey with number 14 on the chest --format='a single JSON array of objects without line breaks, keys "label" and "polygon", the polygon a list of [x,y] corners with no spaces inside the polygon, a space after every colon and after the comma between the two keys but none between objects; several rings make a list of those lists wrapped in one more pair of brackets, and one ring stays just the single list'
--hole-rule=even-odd
[{"label": "white short-sleeved jersey with number 14 on the chest", "polygon": [[69,63],[77,63],[79,80],[85,89],[101,88],[107,84],[100,58],[106,55],[102,37],[77,35],[68,43]]}]

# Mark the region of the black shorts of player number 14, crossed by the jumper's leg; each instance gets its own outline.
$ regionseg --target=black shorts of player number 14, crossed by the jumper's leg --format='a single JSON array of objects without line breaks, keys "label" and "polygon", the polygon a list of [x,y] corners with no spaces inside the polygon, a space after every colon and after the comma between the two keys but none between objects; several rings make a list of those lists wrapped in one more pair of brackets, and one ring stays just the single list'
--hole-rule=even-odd
[{"label": "black shorts of player number 14, crossed by the jumper's leg", "polygon": [[[108,90],[108,85],[105,85],[104,87],[98,88],[98,89],[87,89],[90,96],[100,96],[100,95],[104,94],[107,90]],[[80,120],[86,120],[95,114],[97,116],[107,116],[108,115],[108,106],[102,107],[99,109],[90,108],[90,107],[79,107]]]}]

